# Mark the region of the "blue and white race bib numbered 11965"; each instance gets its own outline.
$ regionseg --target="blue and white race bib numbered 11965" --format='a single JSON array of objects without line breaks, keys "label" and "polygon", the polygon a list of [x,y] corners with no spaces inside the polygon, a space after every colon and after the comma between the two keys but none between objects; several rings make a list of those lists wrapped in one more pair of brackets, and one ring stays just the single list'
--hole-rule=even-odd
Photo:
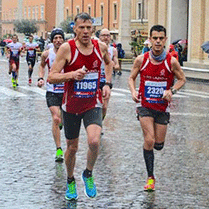
[{"label": "blue and white race bib numbered 11965", "polygon": [[80,98],[94,97],[98,88],[98,73],[88,73],[81,81],[74,83],[74,95]]}]

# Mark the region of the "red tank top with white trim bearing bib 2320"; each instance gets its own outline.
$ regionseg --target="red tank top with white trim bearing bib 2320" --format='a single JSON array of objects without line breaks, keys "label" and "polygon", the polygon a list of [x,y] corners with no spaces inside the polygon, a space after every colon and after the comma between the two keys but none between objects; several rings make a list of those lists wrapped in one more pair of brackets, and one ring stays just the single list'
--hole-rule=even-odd
[{"label": "red tank top with white trim bearing bib 2320", "polygon": [[168,101],[162,97],[164,91],[169,90],[174,82],[171,56],[168,53],[166,59],[157,65],[150,61],[149,56],[149,52],[144,54],[140,70],[139,96],[141,97],[141,105],[153,110],[169,112]]}]

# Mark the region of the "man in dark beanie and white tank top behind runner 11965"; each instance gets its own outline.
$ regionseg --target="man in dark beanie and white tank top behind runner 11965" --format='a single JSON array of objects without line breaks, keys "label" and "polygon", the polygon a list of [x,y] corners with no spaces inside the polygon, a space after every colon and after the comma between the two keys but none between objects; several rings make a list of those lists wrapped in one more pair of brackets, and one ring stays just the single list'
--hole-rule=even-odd
[{"label": "man in dark beanie and white tank top behind runner 11965", "polygon": [[[51,41],[53,42],[53,48],[46,50],[43,52],[41,56],[41,63],[39,67],[39,79],[38,86],[42,87],[44,85],[44,75],[45,75],[45,67],[48,66],[48,73],[52,67],[52,64],[55,60],[56,53],[59,47],[64,43],[64,32],[61,29],[55,28],[51,33]],[[54,141],[56,144],[57,152],[55,156],[55,161],[62,162],[63,151],[61,148],[61,140],[60,140],[60,129],[62,128],[62,120],[61,120],[61,112],[60,107],[62,105],[62,98],[64,92],[64,84],[50,84],[48,81],[46,82],[46,101],[47,106],[52,115],[52,133],[54,137]]]}]

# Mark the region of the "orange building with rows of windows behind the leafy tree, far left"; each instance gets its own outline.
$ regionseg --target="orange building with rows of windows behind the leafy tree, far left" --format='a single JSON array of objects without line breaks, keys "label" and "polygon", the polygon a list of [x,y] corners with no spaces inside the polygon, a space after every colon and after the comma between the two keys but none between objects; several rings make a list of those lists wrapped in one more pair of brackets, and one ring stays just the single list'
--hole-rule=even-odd
[{"label": "orange building with rows of windows behind the leafy tree, far left", "polygon": [[47,36],[56,24],[57,0],[2,0],[2,35],[15,33],[14,21],[35,20],[38,36]]}]

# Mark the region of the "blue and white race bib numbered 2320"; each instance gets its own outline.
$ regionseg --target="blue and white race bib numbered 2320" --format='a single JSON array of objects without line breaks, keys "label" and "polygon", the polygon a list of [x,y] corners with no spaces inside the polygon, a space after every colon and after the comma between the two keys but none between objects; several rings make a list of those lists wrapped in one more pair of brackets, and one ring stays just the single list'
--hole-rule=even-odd
[{"label": "blue and white race bib numbered 2320", "polygon": [[150,103],[162,103],[163,92],[166,90],[167,82],[145,81],[145,97]]}]

